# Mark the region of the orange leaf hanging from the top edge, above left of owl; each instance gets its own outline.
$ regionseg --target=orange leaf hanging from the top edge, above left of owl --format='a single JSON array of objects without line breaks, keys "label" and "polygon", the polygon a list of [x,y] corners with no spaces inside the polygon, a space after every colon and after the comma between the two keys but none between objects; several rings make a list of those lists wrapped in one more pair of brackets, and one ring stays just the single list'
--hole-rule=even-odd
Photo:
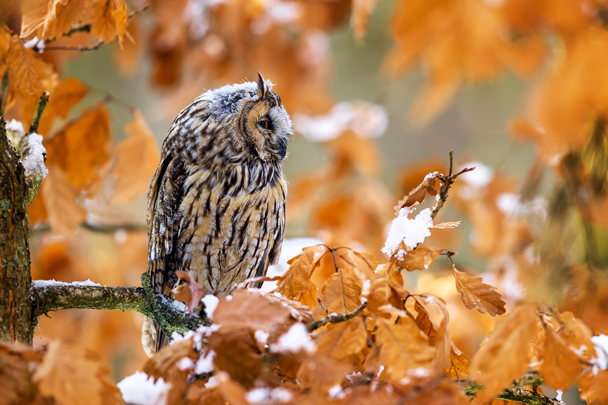
[{"label": "orange leaf hanging from the top edge, above left of owl", "polygon": [[125,0],[94,0],[92,9],[94,12],[91,24],[92,35],[106,44],[119,36],[119,41],[122,43],[129,16]]}]

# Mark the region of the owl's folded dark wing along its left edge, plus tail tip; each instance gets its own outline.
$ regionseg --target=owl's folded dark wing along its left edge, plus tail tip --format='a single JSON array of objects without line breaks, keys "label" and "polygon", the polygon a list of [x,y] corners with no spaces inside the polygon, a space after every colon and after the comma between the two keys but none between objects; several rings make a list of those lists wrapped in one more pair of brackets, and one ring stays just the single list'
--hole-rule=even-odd
[{"label": "owl's folded dark wing along its left edge, plus tail tip", "polygon": [[[179,270],[177,240],[179,236],[179,206],[184,197],[184,164],[169,154],[161,161],[154,174],[148,194],[148,265],[152,290],[169,295]],[[149,322],[148,322],[149,323]],[[167,339],[159,325],[148,325],[150,344],[154,352],[161,349]],[[146,333],[147,331],[144,331]]]}]

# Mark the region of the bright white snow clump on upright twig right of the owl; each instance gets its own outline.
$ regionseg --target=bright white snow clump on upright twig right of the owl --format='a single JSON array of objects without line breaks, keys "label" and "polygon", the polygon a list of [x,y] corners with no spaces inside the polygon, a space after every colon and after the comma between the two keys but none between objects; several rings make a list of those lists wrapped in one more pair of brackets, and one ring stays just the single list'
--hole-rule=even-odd
[{"label": "bright white snow clump on upright twig right of the owl", "polygon": [[410,212],[410,208],[407,207],[399,210],[399,214],[390,225],[389,236],[382,248],[384,253],[389,256],[395,255],[400,260],[407,254],[406,251],[399,248],[401,242],[407,248],[413,249],[418,243],[424,242],[424,238],[430,236],[430,228],[433,227],[430,208],[420,211],[414,219],[407,217]]}]

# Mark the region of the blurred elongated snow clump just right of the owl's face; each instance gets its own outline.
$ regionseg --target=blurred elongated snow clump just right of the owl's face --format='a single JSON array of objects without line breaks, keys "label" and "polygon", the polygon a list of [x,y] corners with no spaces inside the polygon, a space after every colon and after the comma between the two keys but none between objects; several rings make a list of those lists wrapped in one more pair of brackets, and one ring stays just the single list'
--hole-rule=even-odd
[{"label": "blurred elongated snow clump just right of the owl's face", "polygon": [[307,140],[326,142],[345,131],[353,131],[361,138],[378,138],[389,127],[389,114],[378,104],[338,103],[329,114],[296,114],[294,121],[295,132]]}]

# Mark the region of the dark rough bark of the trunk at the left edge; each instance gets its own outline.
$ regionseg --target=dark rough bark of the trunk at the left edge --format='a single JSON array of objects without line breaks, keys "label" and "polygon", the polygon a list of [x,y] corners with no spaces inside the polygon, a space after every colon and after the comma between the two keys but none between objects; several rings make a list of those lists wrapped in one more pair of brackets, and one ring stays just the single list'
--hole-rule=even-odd
[{"label": "dark rough bark of the trunk at the left edge", "polygon": [[26,176],[0,117],[0,341],[32,343]]}]

